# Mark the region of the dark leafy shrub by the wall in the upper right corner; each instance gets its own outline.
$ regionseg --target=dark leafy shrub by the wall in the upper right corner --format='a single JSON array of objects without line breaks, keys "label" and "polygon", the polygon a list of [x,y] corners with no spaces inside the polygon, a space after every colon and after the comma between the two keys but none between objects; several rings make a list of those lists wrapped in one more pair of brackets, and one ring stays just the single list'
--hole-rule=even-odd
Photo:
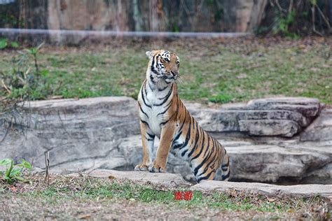
[{"label": "dark leafy shrub by the wall in the upper right corner", "polygon": [[289,38],[300,38],[307,34],[324,36],[331,34],[328,10],[331,3],[324,0],[271,0],[265,7],[265,16],[256,34],[277,34]]}]

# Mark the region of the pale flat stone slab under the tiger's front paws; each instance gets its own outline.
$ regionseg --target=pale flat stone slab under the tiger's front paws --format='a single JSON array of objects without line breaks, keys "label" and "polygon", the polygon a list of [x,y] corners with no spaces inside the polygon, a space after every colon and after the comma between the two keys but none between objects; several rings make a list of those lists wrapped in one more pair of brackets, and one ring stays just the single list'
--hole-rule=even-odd
[{"label": "pale flat stone slab under the tiger's front paws", "polygon": [[163,185],[165,187],[186,187],[191,183],[186,182],[179,173],[150,173],[147,171],[115,171],[95,169],[89,173],[95,178],[117,178],[133,180],[139,183]]}]

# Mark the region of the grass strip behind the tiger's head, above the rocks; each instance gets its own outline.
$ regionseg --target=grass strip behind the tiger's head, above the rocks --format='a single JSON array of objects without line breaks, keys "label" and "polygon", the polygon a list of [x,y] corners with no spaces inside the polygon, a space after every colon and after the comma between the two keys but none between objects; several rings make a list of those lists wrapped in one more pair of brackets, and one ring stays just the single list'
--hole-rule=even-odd
[{"label": "grass strip behind the tiger's head, above the rocks", "polygon": [[[182,99],[228,103],[283,95],[316,97],[332,104],[331,41],[331,37],[299,41],[240,38],[48,46],[41,50],[39,63],[55,88],[49,97],[125,95],[136,99],[145,78],[145,51],[165,48],[181,59]],[[0,69],[11,71],[11,59],[17,53],[0,53],[4,58]]]}]

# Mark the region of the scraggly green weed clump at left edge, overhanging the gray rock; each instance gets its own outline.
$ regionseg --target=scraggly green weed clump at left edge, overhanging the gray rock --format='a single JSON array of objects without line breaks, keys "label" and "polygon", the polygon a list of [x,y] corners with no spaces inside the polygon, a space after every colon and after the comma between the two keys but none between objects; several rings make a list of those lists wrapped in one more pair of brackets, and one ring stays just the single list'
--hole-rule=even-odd
[{"label": "scraggly green weed clump at left edge, overhanging the gray rock", "polygon": [[29,101],[46,99],[54,91],[47,81],[48,70],[39,68],[38,56],[42,46],[43,43],[36,48],[18,51],[18,56],[12,59],[11,70],[0,71],[0,127],[7,129],[5,134],[0,134],[0,143],[9,129],[24,134],[31,123],[27,110]]}]

